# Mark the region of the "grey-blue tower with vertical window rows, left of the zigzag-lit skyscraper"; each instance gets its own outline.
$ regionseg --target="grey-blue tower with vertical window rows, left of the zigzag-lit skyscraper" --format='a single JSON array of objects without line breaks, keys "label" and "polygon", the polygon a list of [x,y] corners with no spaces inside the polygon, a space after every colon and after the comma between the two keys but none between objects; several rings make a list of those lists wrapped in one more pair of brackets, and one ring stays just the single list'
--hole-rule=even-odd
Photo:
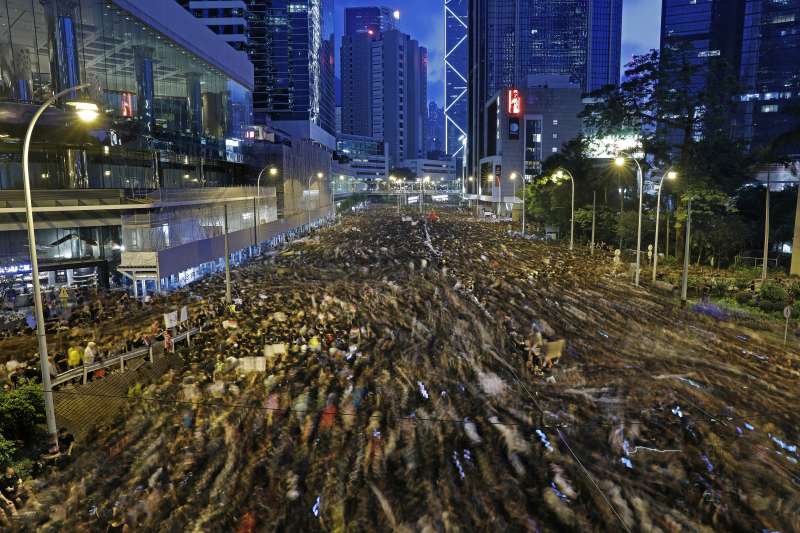
[{"label": "grey-blue tower with vertical window rows, left of the zigzag-lit skyscraper", "polygon": [[397,30],[342,38],[342,133],[382,140],[392,165],[425,155],[428,52]]}]

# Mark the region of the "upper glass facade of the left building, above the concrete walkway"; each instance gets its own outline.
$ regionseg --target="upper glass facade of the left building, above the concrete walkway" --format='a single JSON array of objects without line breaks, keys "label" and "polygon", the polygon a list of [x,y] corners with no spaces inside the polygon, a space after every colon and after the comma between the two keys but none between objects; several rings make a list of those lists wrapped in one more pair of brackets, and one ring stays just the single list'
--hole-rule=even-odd
[{"label": "upper glass facade of the left building, above the concrete walkway", "polygon": [[87,129],[59,107],[48,111],[32,145],[34,188],[222,185],[235,174],[231,140],[252,124],[251,67],[213,42],[187,46],[216,39],[200,25],[160,31],[150,24],[158,6],[0,0],[0,187],[21,187],[33,106],[82,83],[90,87],[76,96],[95,101],[101,121]]}]

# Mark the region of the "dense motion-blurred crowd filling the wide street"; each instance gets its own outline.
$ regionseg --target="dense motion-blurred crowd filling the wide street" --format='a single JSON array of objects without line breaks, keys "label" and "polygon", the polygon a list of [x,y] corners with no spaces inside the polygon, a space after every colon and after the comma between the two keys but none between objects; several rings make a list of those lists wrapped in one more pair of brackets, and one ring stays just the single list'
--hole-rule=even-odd
[{"label": "dense motion-blurred crowd filling the wide street", "polygon": [[230,305],[222,275],[146,320],[86,304],[112,347],[184,301],[203,328],[0,529],[800,531],[797,345],[509,230],[367,209]]}]

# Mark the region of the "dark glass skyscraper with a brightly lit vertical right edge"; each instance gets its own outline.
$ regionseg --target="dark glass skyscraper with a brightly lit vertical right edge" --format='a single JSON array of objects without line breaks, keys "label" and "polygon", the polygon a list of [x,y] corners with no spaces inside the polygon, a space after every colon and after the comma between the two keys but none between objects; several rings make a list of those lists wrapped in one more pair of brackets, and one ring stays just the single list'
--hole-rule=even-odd
[{"label": "dark glass skyscraper with a brightly lit vertical right edge", "polygon": [[256,122],[335,147],[333,0],[250,0]]}]

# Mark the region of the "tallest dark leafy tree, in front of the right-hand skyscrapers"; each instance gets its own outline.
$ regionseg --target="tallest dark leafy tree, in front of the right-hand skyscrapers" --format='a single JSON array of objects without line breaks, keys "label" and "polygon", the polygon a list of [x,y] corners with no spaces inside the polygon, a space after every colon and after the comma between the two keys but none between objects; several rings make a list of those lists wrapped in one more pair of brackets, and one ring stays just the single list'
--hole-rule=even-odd
[{"label": "tallest dark leafy tree, in front of the right-hand skyscrapers", "polygon": [[[730,137],[732,102],[739,89],[735,69],[722,58],[695,64],[692,54],[696,51],[666,48],[663,54],[652,50],[635,56],[626,66],[626,81],[595,93],[595,103],[584,113],[596,137],[637,135],[648,161],[679,172],[671,185],[681,199],[675,219],[679,256],[687,193],[733,195],[764,162],[763,153],[748,153]],[[697,88],[698,77],[706,80],[702,89]]]}]

